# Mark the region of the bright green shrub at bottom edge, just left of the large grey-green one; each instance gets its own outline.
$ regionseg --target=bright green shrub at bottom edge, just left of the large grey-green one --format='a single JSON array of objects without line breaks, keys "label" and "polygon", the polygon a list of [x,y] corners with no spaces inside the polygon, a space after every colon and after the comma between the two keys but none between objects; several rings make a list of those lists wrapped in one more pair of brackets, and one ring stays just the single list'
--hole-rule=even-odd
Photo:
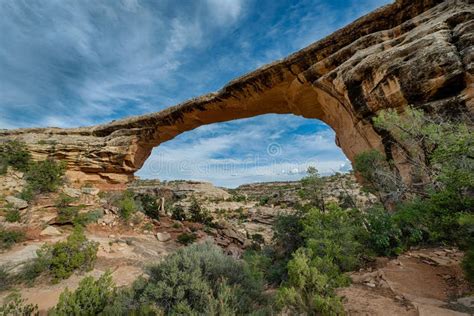
[{"label": "bright green shrub at bottom edge, just left of the large grey-green one", "polygon": [[71,292],[66,288],[61,293],[58,304],[48,315],[99,315],[112,304],[115,296],[116,289],[110,272],[104,273],[97,280],[88,276],[79,283],[75,291]]}]

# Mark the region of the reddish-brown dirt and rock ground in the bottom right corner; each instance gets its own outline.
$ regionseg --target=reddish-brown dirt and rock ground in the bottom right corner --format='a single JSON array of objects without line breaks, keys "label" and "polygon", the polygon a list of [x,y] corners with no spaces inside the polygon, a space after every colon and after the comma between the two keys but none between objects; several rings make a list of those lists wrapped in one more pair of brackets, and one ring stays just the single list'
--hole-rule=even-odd
[{"label": "reddish-brown dirt and rock ground in the bottom right corner", "polygon": [[353,284],[338,294],[349,315],[474,315],[470,299],[460,299],[469,291],[461,259],[461,252],[447,248],[381,259],[375,269],[352,273]]}]

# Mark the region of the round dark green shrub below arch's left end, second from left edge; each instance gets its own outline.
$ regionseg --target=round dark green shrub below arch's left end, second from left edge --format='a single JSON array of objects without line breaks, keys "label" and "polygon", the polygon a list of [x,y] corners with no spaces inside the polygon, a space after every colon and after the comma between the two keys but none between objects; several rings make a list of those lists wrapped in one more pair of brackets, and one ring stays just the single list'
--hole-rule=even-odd
[{"label": "round dark green shrub below arch's left end, second from left edge", "polygon": [[62,184],[65,171],[63,162],[49,159],[32,162],[26,173],[27,185],[33,192],[54,192]]}]

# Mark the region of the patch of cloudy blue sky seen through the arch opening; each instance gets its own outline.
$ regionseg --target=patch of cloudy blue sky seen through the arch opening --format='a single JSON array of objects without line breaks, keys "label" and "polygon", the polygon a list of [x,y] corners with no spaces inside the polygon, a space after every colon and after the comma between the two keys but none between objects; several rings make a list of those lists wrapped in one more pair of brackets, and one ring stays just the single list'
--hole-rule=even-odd
[{"label": "patch of cloudy blue sky seen through the arch opening", "polygon": [[[320,127],[315,133],[298,134],[305,124]],[[296,134],[289,137],[288,129],[282,132],[281,126]],[[334,142],[334,132],[322,126],[292,115],[203,126],[155,148],[137,175],[235,187],[246,182],[297,180],[309,166],[322,174],[342,171],[347,159]]]}]

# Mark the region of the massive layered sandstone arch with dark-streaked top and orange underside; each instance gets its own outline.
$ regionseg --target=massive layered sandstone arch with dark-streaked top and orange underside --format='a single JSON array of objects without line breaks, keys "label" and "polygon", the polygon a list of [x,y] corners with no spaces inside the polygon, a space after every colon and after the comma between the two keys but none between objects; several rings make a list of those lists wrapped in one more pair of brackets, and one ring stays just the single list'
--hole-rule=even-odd
[{"label": "massive layered sandstone arch with dark-streaked top and orange underside", "polygon": [[474,0],[398,0],[216,93],[164,111],[73,129],[0,130],[26,142],[36,159],[68,163],[80,182],[125,183],[153,147],[201,125],[267,113],[320,119],[353,161],[378,149],[406,181],[403,155],[371,118],[385,108],[420,106],[474,113]]}]

